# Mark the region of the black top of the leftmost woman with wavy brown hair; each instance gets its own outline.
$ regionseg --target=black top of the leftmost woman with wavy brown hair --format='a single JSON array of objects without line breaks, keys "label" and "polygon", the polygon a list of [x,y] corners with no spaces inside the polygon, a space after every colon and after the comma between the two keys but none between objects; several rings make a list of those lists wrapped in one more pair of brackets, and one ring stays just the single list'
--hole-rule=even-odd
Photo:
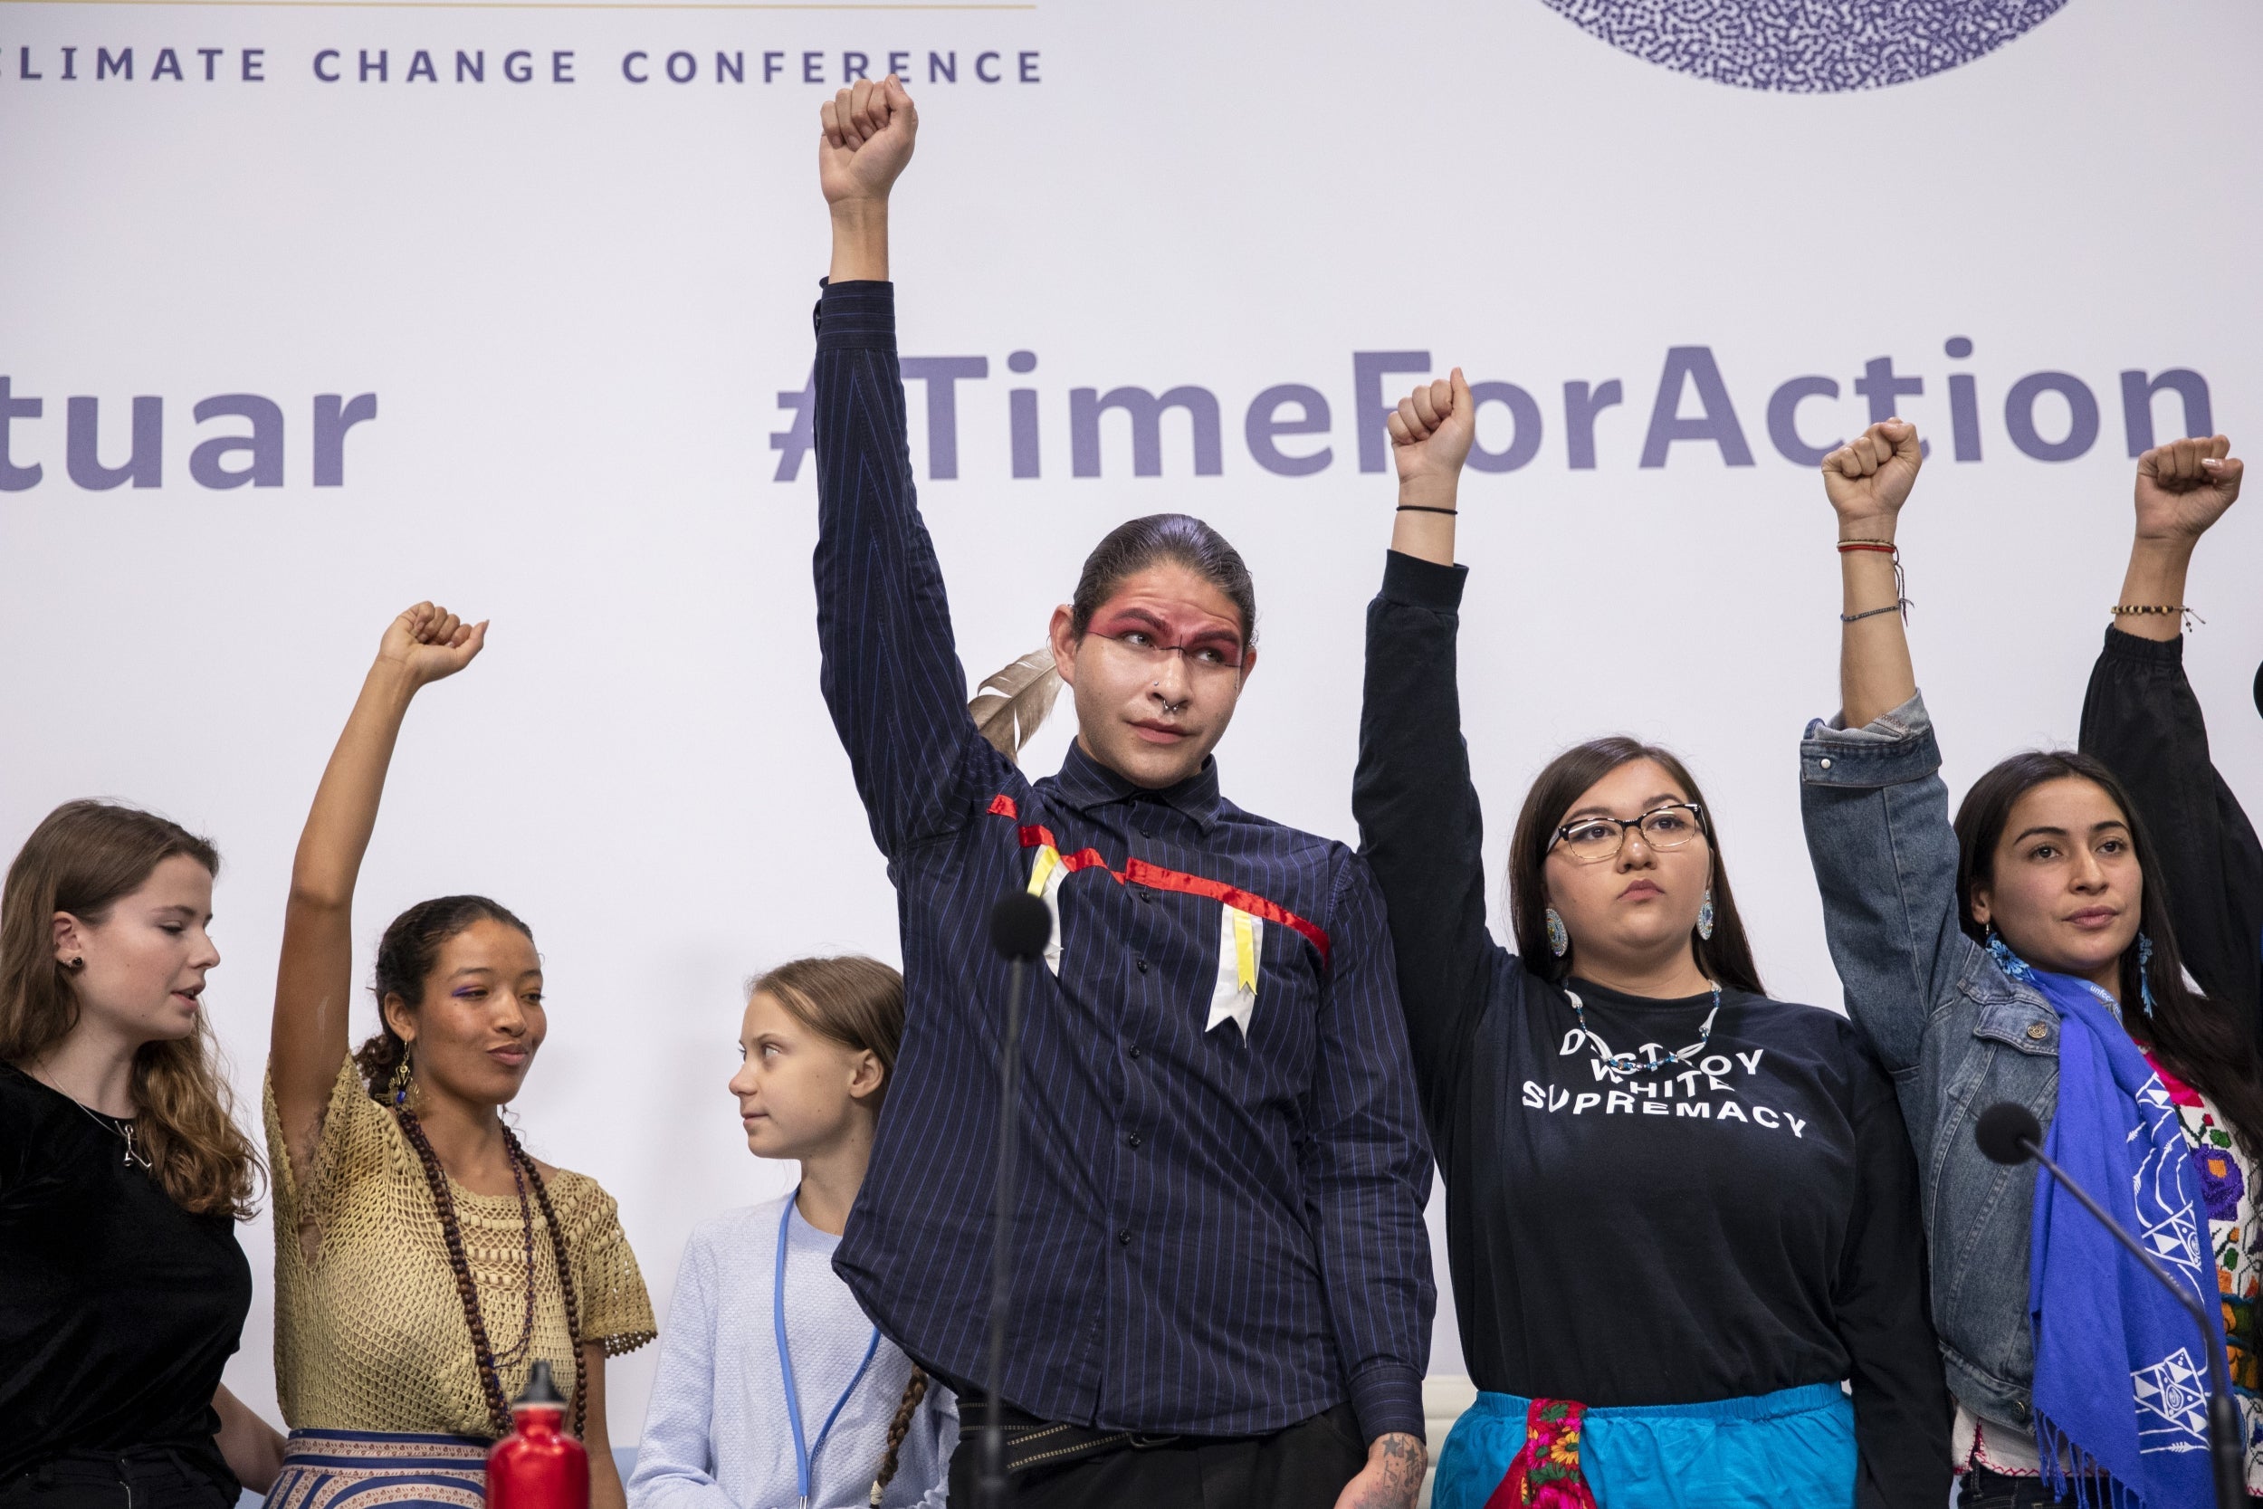
[{"label": "black top of the leftmost woman with wavy brown hair", "polygon": [[235,1500],[213,1434],[251,1310],[226,1215],[190,1215],[84,1106],[0,1063],[0,1482],[165,1446]]}]

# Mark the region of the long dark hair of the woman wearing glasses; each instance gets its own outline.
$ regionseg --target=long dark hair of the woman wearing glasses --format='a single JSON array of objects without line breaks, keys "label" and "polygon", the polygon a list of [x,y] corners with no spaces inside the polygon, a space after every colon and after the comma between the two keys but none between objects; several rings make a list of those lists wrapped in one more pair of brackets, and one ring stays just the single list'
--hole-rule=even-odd
[{"label": "long dark hair of the woman wearing glasses", "polygon": [[1681,765],[1679,756],[1657,744],[1632,740],[1623,733],[1573,744],[1539,774],[1525,792],[1525,810],[1516,814],[1516,833],[1509,837],[1509,919],[1516,928],[1516,952],[1525,968],[1564,980],[1577,959],[1573,952],[1557,959],[1548,950],[1548,882],[1541,866],[1548,862],[1548,839],[1580,792],[1609,776],[1620,765],[1654,760],[1675,778],[1688,799],[1704,812],[1704,842],[1713,851],[1713,937],[1697,937],[1690,928],[1690,948],[1697,952],[1697,968],[1713,980],[1767,995],[1761,984],[1761,968],[1752,962],[1752,939],[1745,937],[1745,919],[1736,912],[1736,891],[1729,889],[1729,862],[1720,853],[1720,837],[1713,833],[1713,808],[1706,805],[1697,778]]}]

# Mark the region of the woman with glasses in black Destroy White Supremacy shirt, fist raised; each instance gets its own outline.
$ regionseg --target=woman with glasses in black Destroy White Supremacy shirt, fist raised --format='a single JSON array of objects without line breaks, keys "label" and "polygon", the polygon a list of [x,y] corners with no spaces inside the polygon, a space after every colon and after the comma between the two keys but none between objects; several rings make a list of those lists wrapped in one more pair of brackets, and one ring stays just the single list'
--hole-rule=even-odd
[{"label": "woman with glasses in black Destroy White Supremacy shirt, fist raised", "polygon": [[1844,1018],[1765,995],[1704,794],[1652,744],[1548,762],[1509,842],[1516,946],[1491,939],[1455,688],[1462,373],[1389,432],[1353,810],[1480,1387],[1432,1502],[1944,1502],[1892,1084]]}]

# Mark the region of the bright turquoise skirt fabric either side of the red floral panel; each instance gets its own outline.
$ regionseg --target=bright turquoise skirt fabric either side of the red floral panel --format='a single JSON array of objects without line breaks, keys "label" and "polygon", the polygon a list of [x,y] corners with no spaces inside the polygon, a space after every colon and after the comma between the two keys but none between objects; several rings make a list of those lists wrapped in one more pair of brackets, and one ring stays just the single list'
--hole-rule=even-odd
[{"label": "bright turquoise skirt fabric either side of the red floral panel", "polygon": [[[1480,1394],[1437,1455],[1432,1509],[1485,1509],[1525,1446],[1530,1398]],[[1711,1405],[1589,1409],[1600,1509],[1853,1509],[1853,1400],[1835,1382]]]}]

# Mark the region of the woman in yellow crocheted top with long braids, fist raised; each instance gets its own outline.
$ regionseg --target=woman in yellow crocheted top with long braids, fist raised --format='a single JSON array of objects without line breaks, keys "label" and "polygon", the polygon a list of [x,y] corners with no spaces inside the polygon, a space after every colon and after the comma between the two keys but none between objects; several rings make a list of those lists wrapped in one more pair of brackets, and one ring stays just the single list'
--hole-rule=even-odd
[{"label": "woman in yellow crocheted top with long braids, fist raised", "polygon": [[530,1158],[498,1115],[548,1032],[527,925],[484,896],[403,912],[378,943],[378,1036],[346,1057],[385,767],[416,690],[484,638],[432,604],[387,627],[292,864],[267,1061],[287,1509],[371,1491],[475,1509],[484,1441],[536,1360],[570,1380],[591,1502],[622,1504],[604,1360],[652,1339],[652,1303],[613,1199]]}]

